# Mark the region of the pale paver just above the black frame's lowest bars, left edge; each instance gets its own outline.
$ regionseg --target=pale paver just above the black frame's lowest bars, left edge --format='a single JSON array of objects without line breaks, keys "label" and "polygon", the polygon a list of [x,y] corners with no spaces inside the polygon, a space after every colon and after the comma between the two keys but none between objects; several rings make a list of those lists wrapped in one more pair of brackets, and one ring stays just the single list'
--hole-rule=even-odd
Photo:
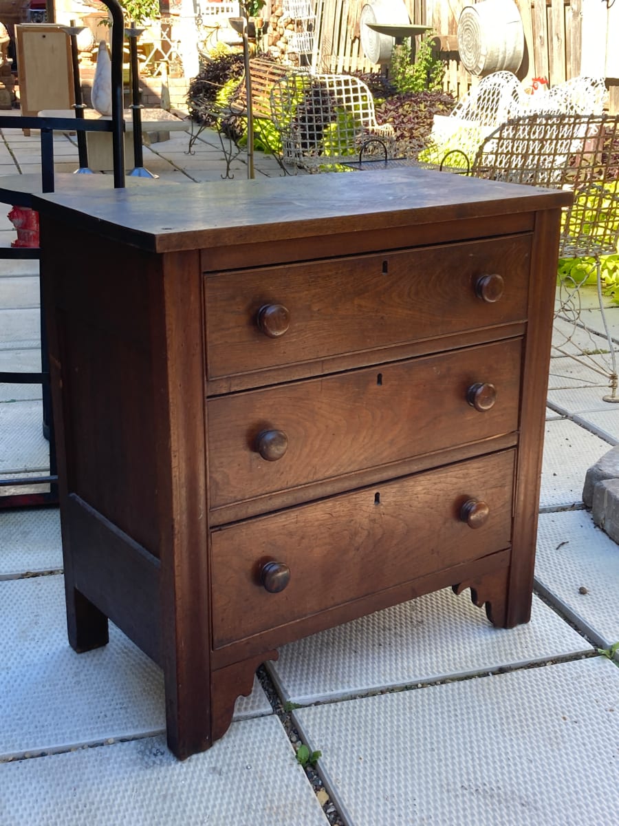
[{"label": "pale paver just above the black frame's lowest bars, left edge", "polygon": [[42,426],[40,401],[0,403],[0,473],[50,468],[50,444]]}]

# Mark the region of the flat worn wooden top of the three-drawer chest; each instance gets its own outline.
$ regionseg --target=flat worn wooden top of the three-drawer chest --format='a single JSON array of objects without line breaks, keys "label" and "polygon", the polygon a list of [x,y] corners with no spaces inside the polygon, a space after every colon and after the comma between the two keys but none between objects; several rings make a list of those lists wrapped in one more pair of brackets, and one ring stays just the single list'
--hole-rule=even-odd
[{"label": "flat worn wooden top of the three-drawer chest", "polygon": [[[423,169],[47,193],[33,206],[151,252],[388,230],[558,208],[569,192]],[[294,225],[294,229],[293,229]]]}]

